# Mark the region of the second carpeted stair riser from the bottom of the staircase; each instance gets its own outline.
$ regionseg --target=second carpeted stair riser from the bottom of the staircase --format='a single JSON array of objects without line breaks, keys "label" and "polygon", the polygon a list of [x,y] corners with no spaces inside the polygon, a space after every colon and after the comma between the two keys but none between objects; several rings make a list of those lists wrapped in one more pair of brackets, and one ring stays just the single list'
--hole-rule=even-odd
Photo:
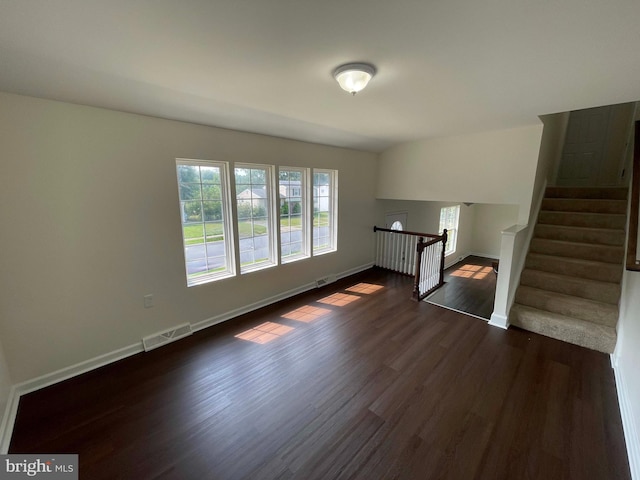
[{"label": "second carpeted stair riser from the bottom of the staircase", "polygon": [[520,287],[516,292],[516,302],[539,310],[558,313],[572,318],[615,327],[618,323],[618,307],[608,304],[594,304],[579,299],[561,299],[546,295],[540,290]]}]

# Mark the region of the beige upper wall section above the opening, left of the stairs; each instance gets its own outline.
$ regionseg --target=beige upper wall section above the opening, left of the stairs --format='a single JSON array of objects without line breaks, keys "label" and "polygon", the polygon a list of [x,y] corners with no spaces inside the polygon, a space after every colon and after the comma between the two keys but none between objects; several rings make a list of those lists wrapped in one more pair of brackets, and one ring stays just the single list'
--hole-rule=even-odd
[{"label": "beige upper wall section above the opening, left of the stairs", "polygon": [[464,201],[531,208],[542,124],[405,143],[380,156],[380,199]]}]

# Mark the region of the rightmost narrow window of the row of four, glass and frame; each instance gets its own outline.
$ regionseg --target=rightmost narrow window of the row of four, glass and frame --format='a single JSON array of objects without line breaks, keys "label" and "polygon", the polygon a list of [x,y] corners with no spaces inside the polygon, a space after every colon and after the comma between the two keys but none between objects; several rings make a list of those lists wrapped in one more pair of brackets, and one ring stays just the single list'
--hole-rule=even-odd
[{"label": "rightmost narrow window of the row of four, glass and frame", "polygon": [[313,171],[313,253],[333,252],[337,245],[337,170]]}]

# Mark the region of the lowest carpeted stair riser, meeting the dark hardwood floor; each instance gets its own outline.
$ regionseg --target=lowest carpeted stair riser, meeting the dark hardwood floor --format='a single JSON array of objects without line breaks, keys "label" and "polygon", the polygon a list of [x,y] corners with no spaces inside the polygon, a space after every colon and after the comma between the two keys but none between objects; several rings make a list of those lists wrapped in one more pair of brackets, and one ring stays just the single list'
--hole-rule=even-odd
[{"label": "lowest carpeted stair riser, meeting the dark hardwood floor", "polygon": [[602,325],[576,325],[554,321],[550,315],[536,315],[514,305],[509,313],[509,323],[530,332],[570,342],[599,352],[613,353],[616,347],[616,331]]}]

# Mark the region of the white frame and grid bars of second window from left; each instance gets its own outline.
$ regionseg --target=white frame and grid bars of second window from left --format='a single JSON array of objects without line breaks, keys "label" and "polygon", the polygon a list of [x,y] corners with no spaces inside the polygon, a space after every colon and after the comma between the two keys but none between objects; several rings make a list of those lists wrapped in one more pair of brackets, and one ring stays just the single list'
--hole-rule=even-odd
[{"label": "white frame and grid bars of second window from left", "polygon": [[[246,240],[242,238],[241,234],[240,234],[240,214],[238,212],[238,207],[240,206],[239,202],[243,201],[241,199],[238,199],[238,195],[242,193],[242,191],[238,190],[238,180],[236,177],[236,173],[237,170],[239,169],[249,169],[249,170],[265,170],[265,193],[267,195],[267,198],[265,199],[265,214],[266,214],[266,220],[265,220],[265,224],[267,226],[267,234],[266,234],[266,240],[267,240],[267,257],[262,260],[262,261],[258,261],[258,262],[252,262],[252,263],[245,263],[243,264],[242,261],[242,253],[244,251],[248,251],[248,250],[242,250],[242,240]],[[275,181],[274,181],[274,172],[275,172],[275,166],[274,165],[264,165],[264,164],[256,164],[256,163],[236,163],[234,165],[233,168],[233,183],[234,183],[234,187],[235,187],[235,192],[236,192],[236,202],[235,202],[235,228],[238,229],[238,241],[237,241],[237,249],[238,249],[238,261],[240,263],[240,274],[245,274],[245,273],[251,273],[251,272],[255,272],[257,270],[262,270],[264,268],[270,268],[273,267],[275,265],[277,265],[277,255],[276,255],[276,236],[278,235],[278,230],[276,228],[276,221],[275,221],[275,215],[274,215],[274,198],[276,198],[275,195],[275,189],[274,189],[274,185],[275,185]],[[246,184],[244,184],[246,185]],[[252,188],[253,183],[249,183],[248,184],[250,186],[250,188]],[[253,197],[250,200],[253,204]],[[251,217],[251,221],[252,221],[252,228],[253,228],[253,216]],[[247,238],[252,238],[252,242],[255,246],[255,238],[257,238],[256,236],[252,236],[252,237],[247,237]]]}]

